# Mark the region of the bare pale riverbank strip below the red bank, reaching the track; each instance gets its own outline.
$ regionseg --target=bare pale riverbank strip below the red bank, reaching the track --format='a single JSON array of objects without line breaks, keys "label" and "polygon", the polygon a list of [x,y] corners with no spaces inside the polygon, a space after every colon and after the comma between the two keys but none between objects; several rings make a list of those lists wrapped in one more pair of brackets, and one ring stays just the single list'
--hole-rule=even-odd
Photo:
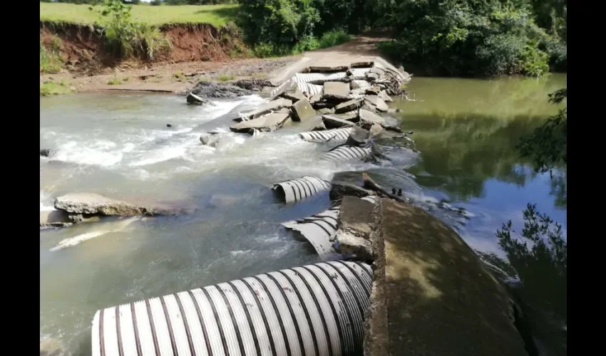
[{"label": "bare pale riverbank strip below the red bank, reaching the track", "polygon": [[[331,48],[309,51],[297,56],[280,58],[227,58],[224,61],[183,61],[179,63],[146,63],[125,61],[115,68],[61,70],[61,73],[41,74],[40,83],[62,85],[63,93],[97,92],[103,90],[150,91],[183,93],[200,81],[225,83],[239,79],[266,79],[283,76],[292,70],[289,65],[301,61],[318,66],[332,66],[339,61],[355,62],[379,55],[379,36],[357,36],[347,43]],[[362,59],[361,59],[362,58]],[[304,59],[305,61],[302,61]],[[309,62],[311,61],[311,62]]]}]

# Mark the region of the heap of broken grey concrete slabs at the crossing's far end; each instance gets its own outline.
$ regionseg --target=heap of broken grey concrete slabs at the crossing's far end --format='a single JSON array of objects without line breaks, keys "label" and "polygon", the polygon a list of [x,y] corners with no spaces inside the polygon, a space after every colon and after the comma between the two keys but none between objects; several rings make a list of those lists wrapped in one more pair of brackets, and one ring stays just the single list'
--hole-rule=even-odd
[{"label": "heap of broken grey concrete slabs at the crossing's far end", "polygon": [[[230,130],[256,135],[278,130],[290,120],[305,122],[316,120],[316,117],[322,117],[322,123],[315,126],[314,131],[354,126],[370,130],[374,124],[389,130],[389,125],[378,113],[390,112],[387,103],[392,99],[389,95],[404,93],[403,84],[411,80],[411,75],[389,67],[382,59],[299,68],[297,73],[272,84],[276,86],[261,90],[270,101],[240,114],[234,119],[239,123],[232,125]],[[202,86],[197,85],[196,90],[201,90]],[[192,91],[188,100],[196,103],[205,100],[195,93]],[[379,128],[375,126],[373,136],[377,130]],[[336,142],[329,140],[330,136],[336,137],[332,133],[302,135],[310,142]],[[218,137],[212,135],[200,136],[202,144],[210,147],[215,147],[217,140]]]}]

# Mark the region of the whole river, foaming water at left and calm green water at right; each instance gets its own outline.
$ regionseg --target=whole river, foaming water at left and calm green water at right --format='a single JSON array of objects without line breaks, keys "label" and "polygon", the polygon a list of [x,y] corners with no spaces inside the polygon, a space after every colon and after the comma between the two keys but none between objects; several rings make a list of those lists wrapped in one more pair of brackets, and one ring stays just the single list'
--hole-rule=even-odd
[{"label": "whole river, foaming water at left and calm green water at right", "polygon": [[[382,172],[393,177],[406,169],[396,178],[405,194],[466,209],[467,219],[435,213],[476,251],[507,261],[495,231],[509,219],[522,224],[527,203],[565,230],[561,189],[549,174],[534,174],[514,149],[556,111],[547,94],[563,86],[565,75],[414,78],[409,92],[417,101],[394,104],[403,127],[414,131],[421,162],[395,153]],[[56,150],[40,158],[41,211],[58,195],[78,191],[196,207],[183,216],[42,230],[41,335],[58,338],[74,355],[90,355],[99,308],[318,261],[279,223],[327,209],[327,194],[284,206],[268,187],[305,174],[331,179],[374,167],[319,163],[322,147],[299,140],[297,126],[251,138],[228,133],[217,148],[200,145],[201,132],[225,130],[222,117],[260,100],[197,107],[183,97],[143,93],[41,98],[40,147]]]}]

